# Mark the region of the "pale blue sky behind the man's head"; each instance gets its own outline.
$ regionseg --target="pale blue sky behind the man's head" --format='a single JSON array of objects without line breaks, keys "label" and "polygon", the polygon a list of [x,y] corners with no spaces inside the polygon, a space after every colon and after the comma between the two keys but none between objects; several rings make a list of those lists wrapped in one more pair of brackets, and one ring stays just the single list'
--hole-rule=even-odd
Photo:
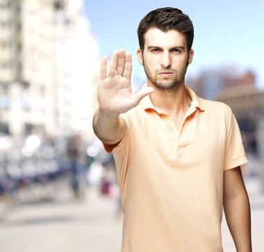
[{"label": "pale blue sky behind the man's head", "polygon": [[113,50],[124,48],[132,54],[133,79],[144,81],[145,72],[136,57],[138,24],[151,10],[166,6],[181,9],[195,27],[195,57],[188,77],[208,68],[235,67],[254,71],[257,87],[264,89],[263,0],[85,0],[85,15],[100,56],[110,58]]}]

